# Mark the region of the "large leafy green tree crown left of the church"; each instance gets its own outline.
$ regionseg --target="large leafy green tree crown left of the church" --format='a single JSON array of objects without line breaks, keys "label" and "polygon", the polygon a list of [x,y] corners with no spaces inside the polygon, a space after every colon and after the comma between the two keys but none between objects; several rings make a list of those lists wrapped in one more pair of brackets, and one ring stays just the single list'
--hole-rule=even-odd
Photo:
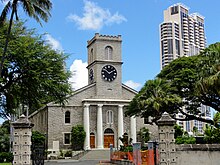
[{"label": "large leafy green tree crown left of the church", "polygon": [[[0,29],[0,43],[4,43],[5,30],[6,26]],[[10,37],[0,79],[0,116],[10,116],[20,105],[33,112],[51,101],[64,103],[65,96],[71,94],[70,72],[64,68],[68,56],[53,50],[43,36],[21,22],[14,24]]]}]

